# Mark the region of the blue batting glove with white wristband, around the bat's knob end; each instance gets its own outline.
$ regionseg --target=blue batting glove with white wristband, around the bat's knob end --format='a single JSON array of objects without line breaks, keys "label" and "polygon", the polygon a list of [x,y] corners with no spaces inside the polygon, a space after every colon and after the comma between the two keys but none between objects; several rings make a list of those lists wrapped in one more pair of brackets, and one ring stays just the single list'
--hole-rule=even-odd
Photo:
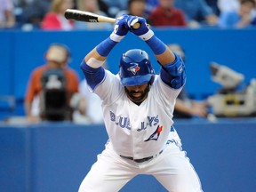
[{"label": "blue batting glove with white wristband, around the bat's knob end", "polygon": [[[154,32],[149,29],[149,25],[144,18],[137,16],[128,16],[127,23],[129,30],[132,31],[132,33],[136,36],[139,36],[143,41],[147,41],[152,36],[154,36]],[[135,23],[140,23],[140,28],[132,28]]]}]

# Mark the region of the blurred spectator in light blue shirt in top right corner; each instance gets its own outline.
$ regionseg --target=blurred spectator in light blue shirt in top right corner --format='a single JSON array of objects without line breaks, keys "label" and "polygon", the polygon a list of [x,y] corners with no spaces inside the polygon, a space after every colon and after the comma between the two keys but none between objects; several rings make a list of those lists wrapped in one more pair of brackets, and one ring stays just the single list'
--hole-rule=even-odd
[{"label": "blurred spectator in light blue shirt in top right corner", "polygon": [[252,27],[252,11],[254,0],[241,0],[238,11],[221,12],[219,26],[221,28],[249,28]]}]

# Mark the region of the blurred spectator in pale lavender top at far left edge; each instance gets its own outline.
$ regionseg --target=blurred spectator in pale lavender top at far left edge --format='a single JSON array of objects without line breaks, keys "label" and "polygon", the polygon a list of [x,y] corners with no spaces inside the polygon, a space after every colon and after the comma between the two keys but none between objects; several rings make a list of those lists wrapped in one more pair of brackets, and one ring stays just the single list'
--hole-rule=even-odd
[{"label": "blurred spectator in pale lavender top at far left edge", "polygon": [[15,15],[12,0],[0,0],[0,28],[15,26]]}]

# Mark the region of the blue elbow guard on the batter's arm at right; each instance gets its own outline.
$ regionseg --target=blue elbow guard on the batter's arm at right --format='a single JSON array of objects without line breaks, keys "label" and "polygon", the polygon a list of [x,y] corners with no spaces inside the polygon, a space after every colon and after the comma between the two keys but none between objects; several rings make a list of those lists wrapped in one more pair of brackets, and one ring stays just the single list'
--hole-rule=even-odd
[{"label": "blue elbow guard on the batter's arm at right", "polygon": [[174,60],[171,64],[164,65],[161,68],[160,76],[165,84],[168,84],[173,89],[179,89],[186,82],[186,70],[183,60],[176,53]]}]

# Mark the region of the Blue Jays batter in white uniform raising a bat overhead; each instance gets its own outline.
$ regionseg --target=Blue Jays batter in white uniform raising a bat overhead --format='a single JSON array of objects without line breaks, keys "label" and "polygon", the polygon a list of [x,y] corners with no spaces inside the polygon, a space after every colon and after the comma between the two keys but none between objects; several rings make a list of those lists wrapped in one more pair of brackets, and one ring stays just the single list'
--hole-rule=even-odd
[{"label": "Blue Jays batter in white uniform raising a bat overhead", "polygon": [[[138,22],[140,28],[132,28]],[[160,75],[155,74],[148,53],[140,49],[124,52],[117,75],[101,67],[129,31],[154,52]],[[203,191],[172,126],[175,100],[186,81],[185,67],[146,20],[130,15],[117,18],[114,31],[85,56],[81,68],[91,91],[102,100],[109,140],[79,192],[119,191],[138,174],[153,175],[168,191]]]}]

